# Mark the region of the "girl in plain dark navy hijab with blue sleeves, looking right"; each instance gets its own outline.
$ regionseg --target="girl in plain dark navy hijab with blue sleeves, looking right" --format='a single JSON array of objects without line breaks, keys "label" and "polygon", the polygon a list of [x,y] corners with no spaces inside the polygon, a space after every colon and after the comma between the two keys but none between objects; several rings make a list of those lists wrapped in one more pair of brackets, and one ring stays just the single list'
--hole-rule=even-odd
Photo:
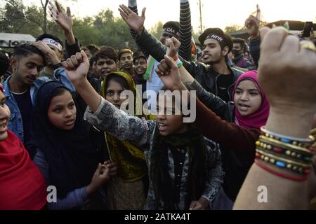
[{"label": "girl in plain dark navy hijab with blue sleeves, looking right", "polygon": [[57,190],[57,201],[53,203],[52,196],[48,209],[91,208],[85,206],[100,198],[103,191],[98,189],[110,178],[109,171],[114,172],[110,163],[100,163],[78,113],[65,86],[52,81],[39,88],[34,104],[34,163],[46,185]]}]

